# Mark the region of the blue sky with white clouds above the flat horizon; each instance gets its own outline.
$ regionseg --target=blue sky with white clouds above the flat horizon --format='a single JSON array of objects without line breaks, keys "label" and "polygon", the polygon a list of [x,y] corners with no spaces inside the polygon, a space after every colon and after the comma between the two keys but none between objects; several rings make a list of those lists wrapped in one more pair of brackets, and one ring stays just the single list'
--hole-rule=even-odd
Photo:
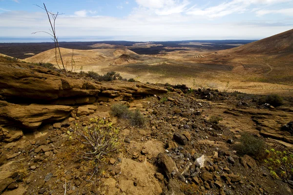
[{"label": "blue sky with white clouds above the flat horizon", "polygon": [[263,39],[293,29],[293,0],[0,0],[0,42]]}]

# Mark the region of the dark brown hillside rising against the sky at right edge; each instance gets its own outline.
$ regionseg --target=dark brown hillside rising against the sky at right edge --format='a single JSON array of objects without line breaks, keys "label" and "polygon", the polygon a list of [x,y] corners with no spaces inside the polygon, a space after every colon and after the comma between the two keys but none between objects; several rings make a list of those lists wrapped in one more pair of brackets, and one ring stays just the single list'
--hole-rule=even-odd
[{"label": "dark brown hillside rising against the sky at right edge", "polygon": [[261,39],[239,47],[228,49],[225,52],[235,54],[292,54],[293,29],[266,39]]}]

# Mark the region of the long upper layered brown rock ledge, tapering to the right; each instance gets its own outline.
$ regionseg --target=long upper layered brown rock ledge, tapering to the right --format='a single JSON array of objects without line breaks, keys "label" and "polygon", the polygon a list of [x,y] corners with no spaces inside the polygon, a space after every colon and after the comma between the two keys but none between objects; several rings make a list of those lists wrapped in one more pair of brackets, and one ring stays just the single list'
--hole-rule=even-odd
[{"label": "long upper layered brown rock ledge, tapering to the right", "polygon": [[66,78],[58,73],[26,63],[0,63],[0,96],[8,102],[74,105],[99,98],[129,100],[167,93],[161,87],[126,81],[95,82]]}]

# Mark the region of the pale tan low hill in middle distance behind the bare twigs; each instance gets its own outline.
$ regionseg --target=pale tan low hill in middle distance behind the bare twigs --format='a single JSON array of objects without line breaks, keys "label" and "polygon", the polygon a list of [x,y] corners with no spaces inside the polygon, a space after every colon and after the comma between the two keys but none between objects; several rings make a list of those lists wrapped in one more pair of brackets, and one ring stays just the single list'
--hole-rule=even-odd
[{"label": "pale tan low hill in middle distance behind the bare twigs", "polygon": [[[62,58],[64,63],[71,63],[72,50],[61,48]],[[104,61],[114,61],[121,55],[129,55],[131,57],[138,57],[139,55],[128,49],[92,49],[92,50],[74,50],[74,61],[76,64],[95,64]],[[59,54],[57,54],[59,59]],[[55,49],[44,51],[40,54],[24,59],[27,62],[44,62],[56,64]],[[58,60],[61,63],[61,60]]]}]

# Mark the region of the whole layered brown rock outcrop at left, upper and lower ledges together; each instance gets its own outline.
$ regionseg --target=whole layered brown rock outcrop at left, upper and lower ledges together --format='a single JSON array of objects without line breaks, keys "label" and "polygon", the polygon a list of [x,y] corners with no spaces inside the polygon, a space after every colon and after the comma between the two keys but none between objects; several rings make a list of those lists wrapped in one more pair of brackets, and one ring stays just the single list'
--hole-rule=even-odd
[{"label": "whole layered brown rock outcrop at left, upper and lower ledges together", "polygon": [[[167,93],[162,87],[138,82],[96,82],[77,75],[66,78],[55,71],[22,62],[0,62],[0,70],[2,127],[36,129],[42,123],[68,117],[76,104],[132,100]],[[7,132],[2,134],[3,138],[10,137]]]}]

